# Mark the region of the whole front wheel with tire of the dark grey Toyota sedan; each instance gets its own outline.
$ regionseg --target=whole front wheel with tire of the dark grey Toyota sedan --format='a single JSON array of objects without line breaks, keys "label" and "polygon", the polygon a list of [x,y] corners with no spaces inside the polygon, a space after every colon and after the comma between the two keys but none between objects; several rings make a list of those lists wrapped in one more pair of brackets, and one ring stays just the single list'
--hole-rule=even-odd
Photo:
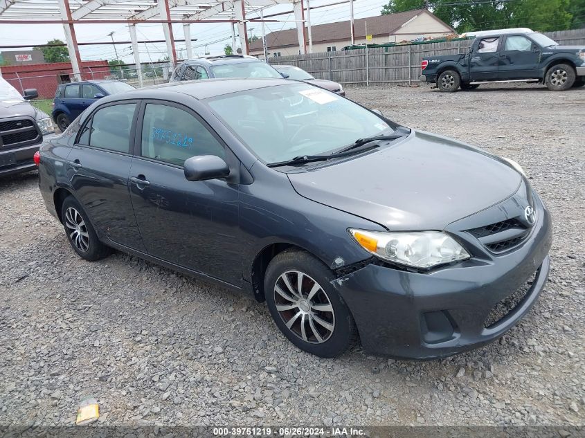
[{"label": "whole front wheel with tire of the dark grey Toyota sedan", "polygon": [[302,250],[276,255],[264,276],[268,308],[282,334],[323,358],[343,354],[357,338],[351,313],[332,280],[327,266]]}]

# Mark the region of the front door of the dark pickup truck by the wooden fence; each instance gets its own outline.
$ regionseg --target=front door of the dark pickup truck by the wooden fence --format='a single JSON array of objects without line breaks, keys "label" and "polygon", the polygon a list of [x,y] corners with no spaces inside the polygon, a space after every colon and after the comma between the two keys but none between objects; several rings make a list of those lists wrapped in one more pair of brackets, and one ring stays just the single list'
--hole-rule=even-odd
[{"label": "front door of the dark pickup truck by the wooden fence", "polygon": [[506,35],[500,51],[499,80],[539,77],[541,48],[524,35]]}]

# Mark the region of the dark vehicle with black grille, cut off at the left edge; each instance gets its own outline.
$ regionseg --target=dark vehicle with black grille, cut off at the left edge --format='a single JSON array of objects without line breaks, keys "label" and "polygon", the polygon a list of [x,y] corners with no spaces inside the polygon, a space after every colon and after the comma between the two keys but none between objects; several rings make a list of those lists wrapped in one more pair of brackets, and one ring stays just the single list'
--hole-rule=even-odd
[{"label": "dark vehicle with black grille, cut off at the left edge", "polygon": [[37,96],[36,89],[21,96],[0,77],[0,176],[35,170],[33,156],[43,136],[55,131],[48,114],[27,102]]}]

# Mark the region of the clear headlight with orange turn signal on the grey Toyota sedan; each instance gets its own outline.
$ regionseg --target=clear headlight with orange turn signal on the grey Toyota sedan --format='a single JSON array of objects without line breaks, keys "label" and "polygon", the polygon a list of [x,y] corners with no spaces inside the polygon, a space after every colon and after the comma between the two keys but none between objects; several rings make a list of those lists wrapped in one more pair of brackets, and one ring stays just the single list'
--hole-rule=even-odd
[{"label": "clear headlight with orange turn signal on the grey Toyota sedan", "polygon": [[378,232],[350,229],[364,249],[397,264],[430,268],[471,257],[449,235],[440,231]]}]

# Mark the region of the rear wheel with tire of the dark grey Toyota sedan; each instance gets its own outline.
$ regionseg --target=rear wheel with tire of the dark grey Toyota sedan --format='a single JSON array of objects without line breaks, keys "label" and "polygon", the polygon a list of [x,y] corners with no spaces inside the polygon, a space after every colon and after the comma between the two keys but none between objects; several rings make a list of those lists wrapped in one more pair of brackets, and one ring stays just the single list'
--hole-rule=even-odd
[{"label": "rear wheel with tire of the dark grey Toyota sedan", "polygon": [[66,197],[61,207],[61,218],[69,244],[82,259],[94,262],[109,254],[109,248],[98,239],[96,230],[77,199]]}]

